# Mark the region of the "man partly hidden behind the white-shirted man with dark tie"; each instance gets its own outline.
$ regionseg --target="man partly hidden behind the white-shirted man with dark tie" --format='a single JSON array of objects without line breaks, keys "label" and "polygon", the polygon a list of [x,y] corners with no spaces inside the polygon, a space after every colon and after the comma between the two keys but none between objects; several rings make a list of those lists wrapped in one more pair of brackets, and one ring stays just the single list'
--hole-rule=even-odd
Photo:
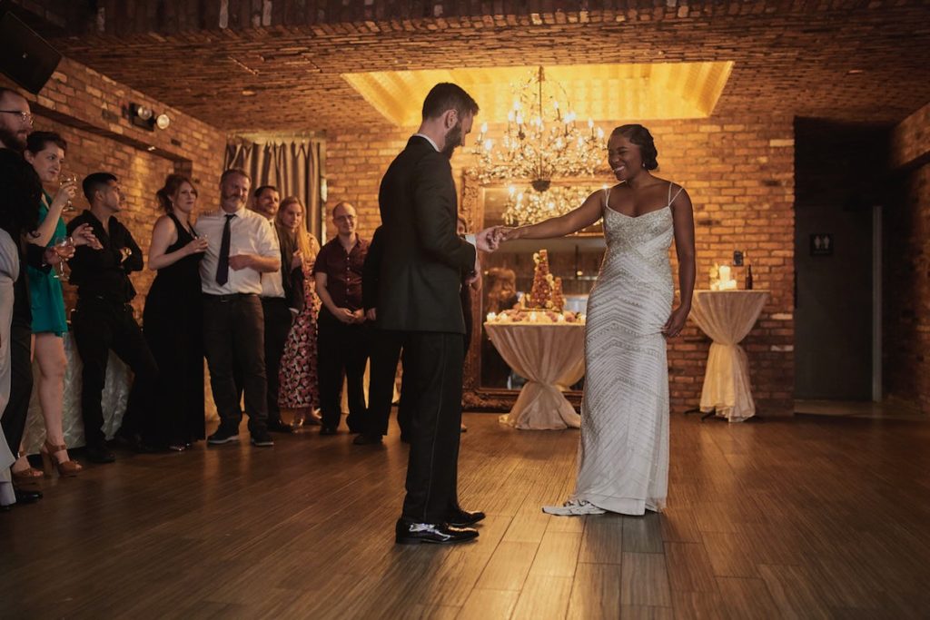
[{"label": "man partly hidden behind the white-shirted man with dark tie", "polygon": [[[252,208],[268,220],[268,226],[274,233],[277,229],[274,217],[281,204],[281,194],[273,185],[262,185],[252,193]],[[281,257],[281,269],[261,274],[261,310],[265,314],[265,375],[268,376],[268,429],[272,432],[294,432],[291,425],[281,419],[278,406],[278,371],[281,369],[281,356],[285,352],[287,334],[290,332],[293,314],[287,307],[285,295],[285,271],[290,266],[288,257]]]}]

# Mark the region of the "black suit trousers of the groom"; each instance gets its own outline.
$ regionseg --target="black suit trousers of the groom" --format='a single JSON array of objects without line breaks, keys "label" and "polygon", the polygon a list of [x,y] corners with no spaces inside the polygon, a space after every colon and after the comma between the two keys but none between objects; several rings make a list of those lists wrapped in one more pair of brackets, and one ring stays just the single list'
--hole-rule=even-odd
[{"label": "black suit trousers of the groom", "polygon": [[[407,332],[404,383],[412,401],[410,457],[403,518],[441,523],[458,506],[462,335]],[[407,386],[407,384],[409,384]]]}]

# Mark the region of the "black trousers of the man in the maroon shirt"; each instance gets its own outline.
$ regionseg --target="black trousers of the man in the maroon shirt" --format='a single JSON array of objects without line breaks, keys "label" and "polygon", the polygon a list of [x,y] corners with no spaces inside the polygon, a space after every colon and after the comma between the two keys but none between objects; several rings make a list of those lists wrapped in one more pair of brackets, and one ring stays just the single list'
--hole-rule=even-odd
[{"label": "black trousers of the man in the maroon shirt", "polygon": [[339,427],[342,377],[345,376],[349,389],[349,416],[346,423],[351,430],[364,430],[365,362],[368,359],[369,331],[365,323],[342,323],[326,308],[320,310],[316,336],[316,376],[320,387],[320,416],[326,428]]}]

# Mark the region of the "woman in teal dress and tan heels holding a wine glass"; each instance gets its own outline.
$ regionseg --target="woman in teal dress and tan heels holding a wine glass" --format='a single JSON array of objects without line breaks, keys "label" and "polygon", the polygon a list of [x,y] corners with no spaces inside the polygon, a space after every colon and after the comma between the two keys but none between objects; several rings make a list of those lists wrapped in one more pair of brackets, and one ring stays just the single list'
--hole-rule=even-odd
[{"label": "woman in teal dress and tan heels holding a wine glass", "polygon": [[[33,357],[39,366],[38,397],[46,427],[42,456],[46,475],[49,476],[54,469],[58,469],[61,476],[76,476],[81,471],[81,465],[68,456],[61,424],[64,375],[68,363],[64,353],[64,335],[68,332],[68,323],[60,275],[64,273],[64,259],[73,255],[75,245],[99,245],[87,225],[76,228],[71,236],[65,230],[61,213],[77,191],[75,181],[59,182],[67,149],[67,143],[58,134],[33,131],[26,139],[23,152],[45,186],[39,204],[39,225],[29,236],[30,243],[53,248],[62,258],[51,271],[26,267],[33,309]],[[46,191],[47,187],[56,187],[54,198]],[[13,466],[13,473],[20,480],[41,475],[21,455]]]}]

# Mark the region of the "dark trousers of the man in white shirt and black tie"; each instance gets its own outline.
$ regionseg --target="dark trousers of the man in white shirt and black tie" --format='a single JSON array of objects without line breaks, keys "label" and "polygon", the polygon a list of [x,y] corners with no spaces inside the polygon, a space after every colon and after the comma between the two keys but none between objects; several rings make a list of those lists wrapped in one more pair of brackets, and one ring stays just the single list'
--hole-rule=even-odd
[{"label": "dark trousers of the man in white shirt and black tie", "polygon": [[264,336],[258,295],[204,295],[206,364],[222,429],[237,431],[242,422],[237,372],[246,392],[249,432],[262,433],[268,428]]}]

